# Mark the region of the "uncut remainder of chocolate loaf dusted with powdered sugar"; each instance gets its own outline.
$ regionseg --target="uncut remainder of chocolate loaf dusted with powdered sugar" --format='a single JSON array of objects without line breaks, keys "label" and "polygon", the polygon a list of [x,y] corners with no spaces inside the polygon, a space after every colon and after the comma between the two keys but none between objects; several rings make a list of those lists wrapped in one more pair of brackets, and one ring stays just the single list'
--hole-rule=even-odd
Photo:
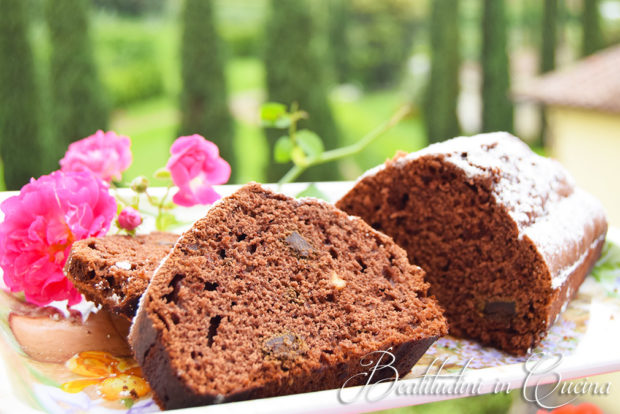
[{"label": "uncut remainder of chocolate loaf dusted with powdered sugar", "polygon": [[545,336],[605,240],[597,200],[507,133],[398,155],[336,206],[427,272],[450,333],[521,355]]}]

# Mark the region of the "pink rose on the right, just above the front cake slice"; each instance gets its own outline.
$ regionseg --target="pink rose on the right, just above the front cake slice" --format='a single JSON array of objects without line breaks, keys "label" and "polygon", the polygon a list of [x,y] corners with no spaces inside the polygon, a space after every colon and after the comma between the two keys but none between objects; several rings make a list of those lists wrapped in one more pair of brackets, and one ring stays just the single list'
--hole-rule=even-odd
[{"label": "pink rose on the right, just above the front cake slice", "polygon": [[191,207],[211,204],[220,198],[213,184],[224,184],[230,178],[230,165],[220,157],[217,145],[200,135],[179,137],[170,148],[166,168],[179,187],[172,201]]}]

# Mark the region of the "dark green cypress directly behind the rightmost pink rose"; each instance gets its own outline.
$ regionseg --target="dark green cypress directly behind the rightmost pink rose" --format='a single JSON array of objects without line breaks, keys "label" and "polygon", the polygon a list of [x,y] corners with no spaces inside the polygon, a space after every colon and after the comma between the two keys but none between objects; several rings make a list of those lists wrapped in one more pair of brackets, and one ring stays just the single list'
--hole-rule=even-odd
[{"label": "dark green cypress directly behind the rightmost pink rose", "polygon": [[213,141],[237,172],[233,122],[228,110],[224,54],[211,0],[186,0],[181,40],[180,135],[200,134]]}]

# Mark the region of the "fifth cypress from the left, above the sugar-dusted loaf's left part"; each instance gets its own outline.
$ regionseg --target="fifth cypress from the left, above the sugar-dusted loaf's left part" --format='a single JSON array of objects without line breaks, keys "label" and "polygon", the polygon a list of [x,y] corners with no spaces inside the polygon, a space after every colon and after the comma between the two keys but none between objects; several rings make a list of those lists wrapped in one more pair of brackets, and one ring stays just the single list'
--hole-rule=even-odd
[{"label": "fifth cypress from the left, above the sugar-dusted loaf's left part", "polygon": [[430,20],[431,71],[426,88],[424,118],[429,142],[460,133],[456,105],[459,94],[459,0],[433,2]]}]

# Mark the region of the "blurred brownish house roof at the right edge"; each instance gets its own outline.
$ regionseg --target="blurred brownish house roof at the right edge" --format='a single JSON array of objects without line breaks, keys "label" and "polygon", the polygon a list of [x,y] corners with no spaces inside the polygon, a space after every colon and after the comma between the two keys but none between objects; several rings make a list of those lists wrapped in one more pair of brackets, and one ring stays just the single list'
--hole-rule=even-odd
[{"label": "blurred brownish house roof at the right edge", "polygon": [[516,99],[620,113],[620,45],[515,88]]}]

